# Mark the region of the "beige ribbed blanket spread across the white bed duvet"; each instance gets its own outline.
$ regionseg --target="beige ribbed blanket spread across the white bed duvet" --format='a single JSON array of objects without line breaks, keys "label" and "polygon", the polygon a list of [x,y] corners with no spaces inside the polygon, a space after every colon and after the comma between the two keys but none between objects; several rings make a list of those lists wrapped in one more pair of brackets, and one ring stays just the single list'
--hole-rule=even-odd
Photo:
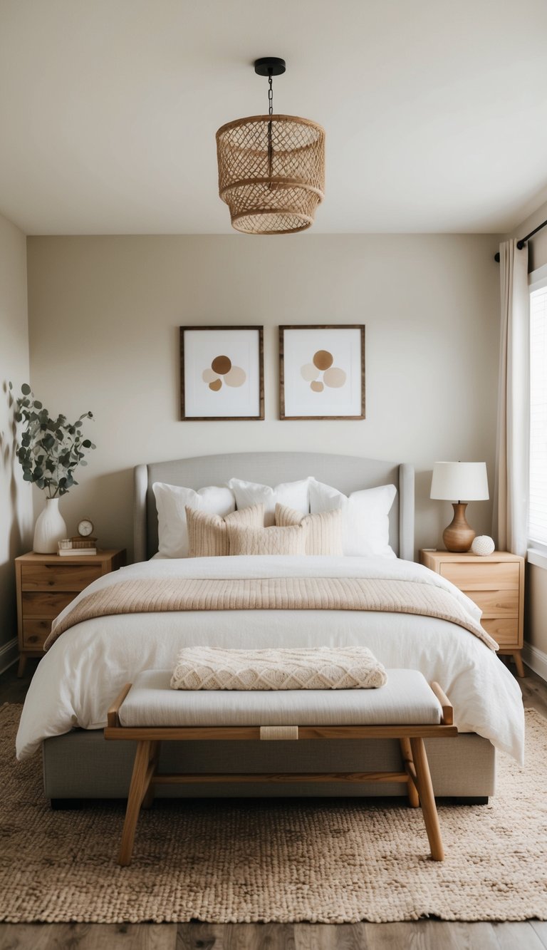
[{"label": "beige ribbed blanket spread across the white bed duvet", "polygon": [[116,614],[190,610],[355,610],[420,614],[448,620],[479,637],[491,650],[498,644],[448,591],[414,580],[369,578],[157,578],[120,580],[88,594],[54,620],[47,650],[69,627]]}]

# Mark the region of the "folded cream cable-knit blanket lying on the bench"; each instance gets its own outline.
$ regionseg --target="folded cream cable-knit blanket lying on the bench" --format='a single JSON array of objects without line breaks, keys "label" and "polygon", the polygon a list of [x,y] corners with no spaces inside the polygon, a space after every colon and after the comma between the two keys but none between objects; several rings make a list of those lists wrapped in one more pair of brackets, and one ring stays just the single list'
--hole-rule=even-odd
[{"label": "folded cream cable-knit blanket lying on the bench", "polygon": [[177,657],[173,690],[368,690],[386,670],[367,647],[223,650],[186,647]]}]

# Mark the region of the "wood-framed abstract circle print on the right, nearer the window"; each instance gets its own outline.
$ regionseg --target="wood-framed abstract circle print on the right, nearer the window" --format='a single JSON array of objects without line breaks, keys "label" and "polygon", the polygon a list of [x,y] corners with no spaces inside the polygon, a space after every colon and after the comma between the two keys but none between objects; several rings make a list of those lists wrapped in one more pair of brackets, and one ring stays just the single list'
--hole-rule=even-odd
[{"label": "wood-framed abstract circle print on the right, nearer the window", "polygon": [[365,327],[279,327],[280,419],[365,418]]}]

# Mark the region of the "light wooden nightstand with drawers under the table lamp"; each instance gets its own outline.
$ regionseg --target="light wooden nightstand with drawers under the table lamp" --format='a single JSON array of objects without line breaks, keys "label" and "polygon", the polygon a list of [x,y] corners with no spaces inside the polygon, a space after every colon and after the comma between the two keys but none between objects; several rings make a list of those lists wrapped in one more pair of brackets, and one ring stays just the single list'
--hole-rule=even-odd
[{"label": "light wooden nightstand with drawers under the table lamp", "polygon": [[517,673],[523,676],[524,558],[506,551],[495,551],[484,558],[420,551],[420,561],[451,580],[481,607],[482,626],[500,644],[500,654],[513,654]]}]

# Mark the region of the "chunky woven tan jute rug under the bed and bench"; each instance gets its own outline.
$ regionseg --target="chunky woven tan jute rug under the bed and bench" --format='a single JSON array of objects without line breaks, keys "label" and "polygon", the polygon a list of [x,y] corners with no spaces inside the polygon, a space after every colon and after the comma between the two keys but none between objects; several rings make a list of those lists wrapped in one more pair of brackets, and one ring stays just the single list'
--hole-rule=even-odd
[{"label": "chunky woven tan jute rug under the bed and bench", "polygon": [[440,807],[446,859],[421,812],[357,799],[158,802],[133,864],[124,803],[51,811],[41,759],[17,763],[21,707],[0,709],[0,920],[547,920],[547,720],[527,712],[526,768],[500,756],[488,806]]}]

